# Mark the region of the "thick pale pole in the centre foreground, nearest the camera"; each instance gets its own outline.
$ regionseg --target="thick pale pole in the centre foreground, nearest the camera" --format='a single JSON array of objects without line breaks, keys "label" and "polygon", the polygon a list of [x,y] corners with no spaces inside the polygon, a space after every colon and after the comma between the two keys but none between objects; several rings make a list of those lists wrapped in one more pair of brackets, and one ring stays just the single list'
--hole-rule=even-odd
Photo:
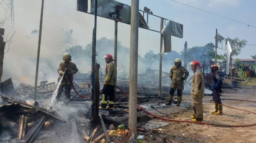
[{"label": "thick pale pole in the centre foreground, nearest the camera", "polygon": [[138,33],[139,0],[132,0],[129,76],[129,127],[133,128],[134,136],[137,136]]}]

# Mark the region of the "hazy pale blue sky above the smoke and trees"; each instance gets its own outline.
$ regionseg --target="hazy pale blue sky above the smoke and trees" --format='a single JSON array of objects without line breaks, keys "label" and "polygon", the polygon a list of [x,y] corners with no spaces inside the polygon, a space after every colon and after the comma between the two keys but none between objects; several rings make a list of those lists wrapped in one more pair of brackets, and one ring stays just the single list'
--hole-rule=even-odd
[{"label": "hazy pale blue sky above the smoke and trees", "polygon": [[[233,20],[256,26],[256,5],[255,0],[176,0],[177,2],[196,8],[206,10],[217,15],[221,15]],[[131,5],[131,0],[119,0],[119,2]],[[42,30],[42,42],[54,41],[47,39],[44,31],[50,29],[54,33],[57,28],[65,30],[74,29],[75,44],[86,46],[92,41],[92,29],[94,27],[94,16],[76,11],[75,0],[45,0],[44,19]],[[15,13],[15,31],[17,35],[26,35],[33,29],[39,29],[40,21],[40,0],[13,0]],[[171,0],[140,0],[139,9],[144,6],[151,9],[154,15],[181,23],[184,25],[183,38],[172,37],[172,50],[180,52],[184,49],[187,41],[188,48],[193,46],[204,46],[212,42],[215,44],[214,36],[216,28],[223,37],[245,39],[248,44],[255,44],[256,28],[246,26],[235,21],[227,20],[219,16],[196,10],[194,8],[181,5]],[[3,16],[3,8],[0,8],[0,16]],[[254,25],[255,24],[255,25]],[[151,29],[160,29],[160,18],[149,16],[149,26]],[[49,28],[49,29],[46,29]],[[10,29],[10,28],[9,28]],[[9,30],[7,28],[7,31]],[[114,39],[114,21],[98,17],[97,19],[97,39],[107,37]],[[44,39],[45,38],[45,39]],[[124,46],[130,47],[130,25],[118,24],[118,40]],[[15,42],[15,41],[13,41]],[[160,34],[139,29],[139,54],[144,57],[146,52],[153,50],[160,51]],[[219,44],[221,47],[221,44]],[[224,47],[224,45],[223,45]],[[255,46],[246,46],[238,57],[241,59],[251,59],[254,55]],[[15,50],[15,47],[10,51]],[[37,51],[35,47],[33,50]],[[224,50],[218,49],[218,54],[224,54]]]}]

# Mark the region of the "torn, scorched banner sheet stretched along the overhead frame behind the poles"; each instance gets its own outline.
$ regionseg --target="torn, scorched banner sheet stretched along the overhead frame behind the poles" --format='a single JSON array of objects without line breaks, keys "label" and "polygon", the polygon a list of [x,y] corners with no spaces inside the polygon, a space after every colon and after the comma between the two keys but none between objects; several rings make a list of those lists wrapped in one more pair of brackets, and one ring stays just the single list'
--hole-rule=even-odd
[{"label": "torn, scorched banner sheet stretched along the overhead frame behind the poles", "polygon": [[[90,13],[94,15],[95,0],[91,1]],[[119,21],[126,24],[131,24],[131,6],[117,2],[115,0],[98,0],[97,15],[108,18],[110,20]],[[139,27],[149,29],[146,21],[141,13],[139,13]]]}]

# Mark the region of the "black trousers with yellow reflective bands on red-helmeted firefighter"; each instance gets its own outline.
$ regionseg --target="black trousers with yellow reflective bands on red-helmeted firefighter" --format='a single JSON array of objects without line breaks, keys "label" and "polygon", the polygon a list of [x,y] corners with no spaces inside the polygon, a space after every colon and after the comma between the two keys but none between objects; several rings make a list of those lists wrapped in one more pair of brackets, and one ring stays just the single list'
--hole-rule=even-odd
[{"label": "black trousers with yellow reflective bands on red-helmeted firefighter", "polygon": [[102,90],[101,107],[107,107],[107,99],[109,98],[109,107],[114,106],[115,86],[104,85]]}]

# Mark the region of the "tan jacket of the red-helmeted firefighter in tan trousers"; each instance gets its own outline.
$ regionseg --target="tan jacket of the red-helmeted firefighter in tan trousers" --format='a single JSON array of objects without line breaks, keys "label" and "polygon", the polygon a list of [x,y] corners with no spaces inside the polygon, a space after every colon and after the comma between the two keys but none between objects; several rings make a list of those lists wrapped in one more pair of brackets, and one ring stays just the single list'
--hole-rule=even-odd
[{"label": "tan jacket of the red-helmeted firefighter in tan trousers", "polygon": [[194,72],[190,96],[192,98],[204,98],[204,75],[202,73]]}]

